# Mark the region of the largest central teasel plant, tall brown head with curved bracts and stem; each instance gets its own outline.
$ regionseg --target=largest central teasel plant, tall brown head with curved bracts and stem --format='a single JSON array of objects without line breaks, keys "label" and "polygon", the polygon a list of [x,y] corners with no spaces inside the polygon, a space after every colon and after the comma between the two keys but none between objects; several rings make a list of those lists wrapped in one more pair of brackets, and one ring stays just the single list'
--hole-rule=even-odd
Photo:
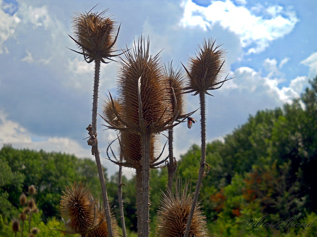
[{"label": "largest central teasel plant, tall brown head with curved bracts and stem", "polygon": [[[141,36],[138,44],[134,42],[132,49],[126,50],[124,57],[120,57],[118,92],[122,113],[116,111],[113,98],[110,93],[109,95],[113,110],[121,125],[117,126],[103,118],[109,124],[106,125],[108,128],[120,131],[121,137],[123,137],[122,140],[125,140],[125,136],[130,136],[129,139],[135,136],[134,139],[139,140],[142,144],[139,146],[142,149],[141,162],[139,163],[141,167],[139,175],[142,181],[141,184],[139,182],[137,184],[141,185],[142,190],[141,204],[137,205],[138,212],[141,210],[138,216],[140,215],[142,218],[142,222],[138,223],[138,233],[142,237],[149,235],[149,179],[151,147],[153,144],[151,141],[155,134],[182,122],[179,121],[173,124],[178,118],[180,109],[177,106],[176,99],[174,100],[175,108],[172,109],[170,86],[163,75],[163,66],[159,54],[150,55],[149,44],[149,39],[146,42],[144,37]],[[174,92],[173,97],[175,98]],[[131,164],[131,160],[127,158],[129,155],[124,152],[125,146],[120,144],[124,158],[128,161],[126,164]],[[156,159],[153,161],[156,161]],[[152,166],[153,164],[152,162]]]}]

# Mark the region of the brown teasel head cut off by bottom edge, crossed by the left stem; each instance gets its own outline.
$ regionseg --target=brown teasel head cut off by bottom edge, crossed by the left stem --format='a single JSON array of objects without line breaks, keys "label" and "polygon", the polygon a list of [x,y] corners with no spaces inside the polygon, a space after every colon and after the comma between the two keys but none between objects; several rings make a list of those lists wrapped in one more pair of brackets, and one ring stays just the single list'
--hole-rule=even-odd
[{"label": "brown teasel head cut off by bottom edge, crossed by the left stem", "polygon": [[[121,236],[119,234],[118,223],[117,223],[117,220],[115,219],[115,216],[111,214],[110,218],[111,218],[111,226],[113,229],[113,237]],[[106,216],[104,212],[102,212],[101,214],[98,213],[97,225],[98,226],[96,228],[92,228],[92,230],[88,232],[87,237],[95,237],[95,236],[108,237],[109,234],[108,234]]]}]

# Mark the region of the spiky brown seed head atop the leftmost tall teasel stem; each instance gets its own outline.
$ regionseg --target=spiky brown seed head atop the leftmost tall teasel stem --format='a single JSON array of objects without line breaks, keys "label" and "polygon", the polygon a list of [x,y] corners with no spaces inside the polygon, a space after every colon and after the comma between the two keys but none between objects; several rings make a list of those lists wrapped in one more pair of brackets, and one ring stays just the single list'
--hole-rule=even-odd
[{"label": "spiky brown seed head atop the leftmost tall teasel stem", "polygon": [[107,63],[104,59],[112,60],[111,57],[117,56],[112,53],[120,27],[115,35],[116,22],[105,16],[107,10],[100,13],[76,13],[73,17],[75,38],[70,37],[81,49],[81,52],[75,52],[82,54],[87,63],[94,60]]}]

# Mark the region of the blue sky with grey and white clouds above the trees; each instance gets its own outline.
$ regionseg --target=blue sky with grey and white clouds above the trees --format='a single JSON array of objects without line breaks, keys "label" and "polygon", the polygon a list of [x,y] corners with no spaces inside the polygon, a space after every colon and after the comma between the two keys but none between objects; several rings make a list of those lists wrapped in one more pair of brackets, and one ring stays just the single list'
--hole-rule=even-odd
[{"label": "blue sky with grey and white clouds above the trees", "polygon": [[[109,8],[121,22],[117,48],[143,33],[162,62],[187,64],[204,38],[226,50],[225,69],[236,78],[207,97],[207,140],[223,136],[258,110],[298,98],[317,74],[317,1],[3,1],[0,0],[0,146],[91,157],[93,64],[82,62],[68,37],[74,12]],[[99,112],[107,90],[116,93],[116,66],[102,65]],[[199,107],[187,96],[187,110]],[[199,111],[194,118],[199,118]],[[199,119],[197,119],[199,120]],[[99,119],[101,123],[101,119]],[[101,157],[113,131],[98,127]],[[200,144],[199,124],[175,128],[179,158]],[[162,143],[165,138],[162,137]],[[117,167],[103,159],[109,173]],[[133,173],[125,170],[126,174]]]}]

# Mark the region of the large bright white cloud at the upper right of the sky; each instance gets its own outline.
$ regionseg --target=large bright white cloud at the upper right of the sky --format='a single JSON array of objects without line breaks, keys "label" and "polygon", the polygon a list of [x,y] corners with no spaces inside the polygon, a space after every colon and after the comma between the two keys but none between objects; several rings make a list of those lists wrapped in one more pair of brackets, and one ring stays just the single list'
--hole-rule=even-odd
[{"label": "large bright white cloud at the upper right of the sky", "polygon": [[218,23],[238,35],[247,54],[264,51],[270,42],[290,33],[298,21],[294,11],[278,5],[248,9],[229,0],[214,1],[208,7],[186,1],[183,8],[183,27],[199,26],[206,31]]}]

